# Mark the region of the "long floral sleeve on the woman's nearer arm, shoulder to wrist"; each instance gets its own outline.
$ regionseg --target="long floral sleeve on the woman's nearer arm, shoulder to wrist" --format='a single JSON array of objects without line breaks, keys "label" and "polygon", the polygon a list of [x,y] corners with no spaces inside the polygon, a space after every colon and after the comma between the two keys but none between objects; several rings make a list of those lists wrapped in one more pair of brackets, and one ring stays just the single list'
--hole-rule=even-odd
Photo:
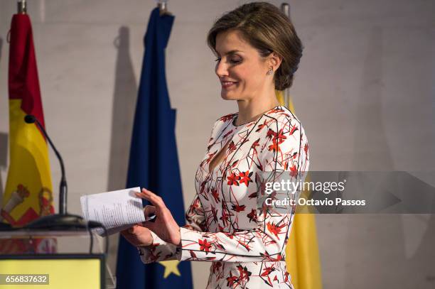
[{"label": "long floral sleeve on the woman's nearer arm, shoulder to wrist", "polygon": [[[264,172],[272,172],[274,181],[287,175],[304,181],[308,171],[308,143],[304,129],[296,119],[281,119],[269,127],[259,160]],[[260,174],[257,174],[257,177]],[[258,180],[256,180],[258,181]],[[228,182],[228,185],[231,182]],[[237,185],[237,184],[235,184]],[[258,184],[257,184],[258,186]],[[260,184],[259,187],[262,187]],[[293,195],[294,199],[300,192]],[[205,232],[195,227],[181,228],[181,261],[280,261],[291,230],[296,205],[276,212],[273,207],[252,209],[256,227],[234,232]]]}]

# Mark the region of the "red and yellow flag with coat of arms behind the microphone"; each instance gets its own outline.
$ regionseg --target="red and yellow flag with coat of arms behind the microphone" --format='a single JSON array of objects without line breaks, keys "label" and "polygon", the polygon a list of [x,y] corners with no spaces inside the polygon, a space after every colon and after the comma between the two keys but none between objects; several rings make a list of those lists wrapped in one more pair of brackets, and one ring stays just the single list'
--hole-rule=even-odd
[{"label": "red and yellow flag with coat of arms behind the microphone", "polygon": [[[36,124],[26,124],[26,114],[45,127],[31,21],[26,14],[15,14],[9,46],[9,171],[0,214],[0,221],[13,227],[54,213],[48,146]],[[55,248],[51,239],[33,242],[30,249],[18,239],[4,242],[0,253]]]}]

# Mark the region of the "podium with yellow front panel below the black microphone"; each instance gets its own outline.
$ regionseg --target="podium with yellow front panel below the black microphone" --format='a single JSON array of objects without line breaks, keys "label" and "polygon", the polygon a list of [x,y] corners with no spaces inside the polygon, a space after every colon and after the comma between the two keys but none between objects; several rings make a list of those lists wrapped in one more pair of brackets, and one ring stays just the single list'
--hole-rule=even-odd
[{"label": "podium with yellow front panel below the black microphone", "polygon": [[114,288],[106,287],[102,246],[92,251],[98,238],[87,230],[0,231],[0,289]]}]

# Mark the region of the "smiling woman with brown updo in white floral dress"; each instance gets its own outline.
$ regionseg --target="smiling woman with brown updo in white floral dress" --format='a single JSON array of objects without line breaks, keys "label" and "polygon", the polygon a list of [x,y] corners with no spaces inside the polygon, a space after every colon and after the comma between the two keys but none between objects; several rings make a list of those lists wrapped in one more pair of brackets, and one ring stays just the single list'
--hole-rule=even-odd
[{"label": "smiling woman with brown updo in white floral dress", "polygon": [[292,84],[301,40],[279,9],[257,2],[218,19],[208,45],[218,56],[221,97],[236,100],[239,111],[213,125],[187,224],[178,227],[161,197],[143,189],[138,196],[153,204],[145,214],[156,214],[156,221],[122,234],[144,263],[211,261],[207,288],[293,288],[285,246],[296,205],[283,211],[257,199],[265,173],[304,180],[308,171],[304,129],[275,96]]}]

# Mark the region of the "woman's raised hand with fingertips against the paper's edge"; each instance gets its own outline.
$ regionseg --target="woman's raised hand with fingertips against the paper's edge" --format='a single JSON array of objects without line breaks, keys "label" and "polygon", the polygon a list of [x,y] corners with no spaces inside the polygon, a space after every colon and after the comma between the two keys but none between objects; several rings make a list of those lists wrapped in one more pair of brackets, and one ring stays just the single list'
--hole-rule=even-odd
[{"label": "woman's raised hand with fingertips against the paper's edge", "polygon": [[136,196],[149,200],[153,205],[146,206],[145,217],[150,213],[156,214],[155,222],[144,222],[142,226],[154,231],[163,241],[176,246],[181,244],[180,227],[178,227],[176,220],[173,219],[171,212],[166,207],[161,197],[146,189],[142,189],[141,192],[136,192]]}]

